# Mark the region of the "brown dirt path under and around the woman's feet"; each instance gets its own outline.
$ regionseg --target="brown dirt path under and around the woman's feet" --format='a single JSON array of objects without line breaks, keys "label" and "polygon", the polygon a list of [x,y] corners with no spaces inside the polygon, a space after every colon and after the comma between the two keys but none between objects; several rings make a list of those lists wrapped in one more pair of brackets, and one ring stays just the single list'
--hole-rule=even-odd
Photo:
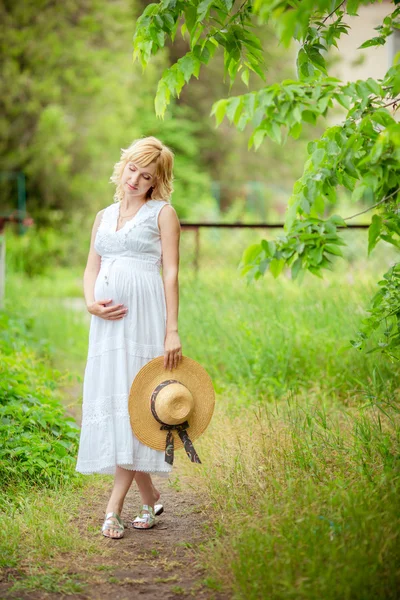
[{"label": "brown dirt path under and around the woman's feet", "polygon": [[157,525],[153,529],[133,529],[131,520],[140,506],[139,494],[133,484],[122,512],[127,528],[121,540],[108,539],[100,534],[109,489],[101,490],[93,497],[90,487],[87,488],[87,505],[81,515],[82,530],[99,532],[102,537],[99,543],[107,548],[107,557],[101,554],[92,556],[89,571],[79,565],[74,565],[71,570],[69,565],[70,573],[81,573],[88,583],[86,594],[78,597],[99,600],[226,598],[202,584],[207,574],[196,564],[194,548],[207,540],[199,498],[182,479],[179,479],[181,491],[162,478],[154,477],[154,483],[161,492],[164,513],[157,517]]}]

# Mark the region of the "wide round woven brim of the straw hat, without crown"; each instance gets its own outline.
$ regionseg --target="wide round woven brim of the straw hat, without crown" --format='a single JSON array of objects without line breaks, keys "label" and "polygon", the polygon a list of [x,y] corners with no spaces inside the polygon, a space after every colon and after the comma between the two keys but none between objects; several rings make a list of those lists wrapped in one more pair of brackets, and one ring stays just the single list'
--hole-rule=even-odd
[{"label": "wide round woven brim of the straw hat, without crown", "polygon": [[[187,433],[191,441],[198,438],[207,428],[215,406],[215,392],[211,377],[198,362],[182,356],[176,368],[164,368],[164,356],[157,356],[144,365],[137,373],[129,392],[128,409],[131,427],[138,440],[155,450],[165,450],[167,432],[160,430],[160,423],[154,418],[150,399],[158,384],[168,379],[177,379],[185,385],[194,398],[194,409],[188,420]],[[174,447],[183,447],[176,431]]]}]

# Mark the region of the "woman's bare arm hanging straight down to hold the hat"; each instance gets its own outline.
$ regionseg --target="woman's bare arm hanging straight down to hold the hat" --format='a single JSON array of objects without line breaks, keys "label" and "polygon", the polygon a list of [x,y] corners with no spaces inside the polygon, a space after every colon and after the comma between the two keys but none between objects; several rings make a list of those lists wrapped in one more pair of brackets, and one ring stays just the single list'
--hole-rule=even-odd
[{"label": "woman's bare arm hanging straight down to hold the hat", "polygon": [[167,307],[164,367],[172,369],[182,360],[182,345],[178,334],[179,311],[179,240],[181,226],[171,205],[166,205],[158,217],[162,247],[162,277]]}]

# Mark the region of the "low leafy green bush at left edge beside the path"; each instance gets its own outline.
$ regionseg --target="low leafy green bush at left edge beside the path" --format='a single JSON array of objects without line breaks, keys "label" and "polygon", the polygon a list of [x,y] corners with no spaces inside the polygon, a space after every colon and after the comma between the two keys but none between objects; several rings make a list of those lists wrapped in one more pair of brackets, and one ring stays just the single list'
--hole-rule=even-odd
[{"label": "low leafy green bush at left edge beside the path", "polygon": [[57,487],[74,470],[79,428],[65,415],[48,366],[46,341],[36,342],[29,318],[0,313],[0,478]]}]

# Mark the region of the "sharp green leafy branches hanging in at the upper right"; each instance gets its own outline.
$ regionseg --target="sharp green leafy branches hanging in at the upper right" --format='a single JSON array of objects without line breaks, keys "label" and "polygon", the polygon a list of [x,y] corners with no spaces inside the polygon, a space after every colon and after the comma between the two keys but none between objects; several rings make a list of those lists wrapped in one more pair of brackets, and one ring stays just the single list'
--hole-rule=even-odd
[{"label": "sharp green leafy branches hanging in at the upper right", "polygon": [[[266,25],[274,29],[283,46],[289,48],[293,40],[298,43],[297,79],[218,100],[211,110],[216,125],[226,117],[239,130],[250,126],[248,147],[257,149],[265,137],[284,144],[289,135],[300,136],[304,122],[316,125],[320,117],[345,110],[342,122],[308,144],[303,175],[288,200],[284,235],[244,252],[241,272],[250,280],[268,270],[277,277],[284,267],[291,268],[293,278],[304,271],[321,276],[324,269],[331,269],[332,258],[342,256],[340,228],[347,219],[327,215],[342,189],[351,193],[353,202],[378,210],[369,228],[368,253],[380,241],[400,249],[400,124],[395,119],[400,102],[400,53],[383,78],[356,82],[330,77],[325,58],[332,46],[338,48],[340,37],[348,34],[346,16],[357,16],[360,6],[376,3],[245,0],[236,8],[233,0],[162,0],[149,4],[137,21],[133,58],[140,59],[143,70],[167,37],[174,41],[179,26],[182,36],[189,38],[188,52],[159,81],[155,109],[162,118],[171,97],[179,97],[193,75],[199,77],[201,66],[210,62],[217,49],[223,48],[223,76],[224,81],[229,76],[230,89],[238,73],[247,87],[250,72],[265,82],[268,65],[254,29]],[[365,40],[360,49],[384,45],[399,29],[400,7],[396,1],[391,4],[392,12],[375,28],[377,35]],[[371,316],[360,331],[360,348],[376,330],[377,300],[373,302]],[[386,331],[394,332],[400,313],[393,294],[385,295],[380,311],[380,321],[388,323]],[[397,358],[399,336],[386,336],[378,348]]]}]

